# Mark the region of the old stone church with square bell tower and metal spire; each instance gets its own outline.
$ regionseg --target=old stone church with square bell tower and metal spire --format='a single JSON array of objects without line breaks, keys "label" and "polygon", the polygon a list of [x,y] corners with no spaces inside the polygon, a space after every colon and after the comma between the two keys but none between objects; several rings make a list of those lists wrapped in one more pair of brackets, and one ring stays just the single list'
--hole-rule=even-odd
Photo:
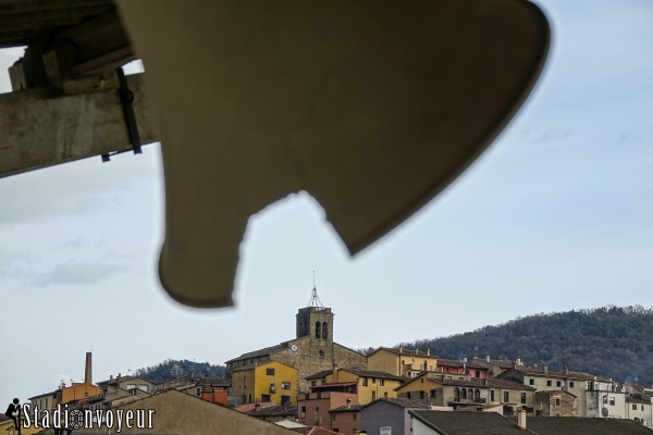
[{"label": "old stone church with square bell tower and metal spire", "polygon": [[[333,340],[333,312],[322,307],[313,287],[313,297],[308,307],[300,308],[296,315],[296,337],[279,345],[243,353],[226,361],[226,375],[238,376],[243,368],[256,366],[267,361],[278,361],[297,369],[297,382],[292,386],[295,394],[308,393],[310,383],[305,378],[315,373],[333,370],[334,365],[350,369],[367,369],[362,353]],[[242,396],[232,390],[232,396]],[[260,398],[252,398],[258,401]],[[249,397],[245,397],[248,402]]]}]

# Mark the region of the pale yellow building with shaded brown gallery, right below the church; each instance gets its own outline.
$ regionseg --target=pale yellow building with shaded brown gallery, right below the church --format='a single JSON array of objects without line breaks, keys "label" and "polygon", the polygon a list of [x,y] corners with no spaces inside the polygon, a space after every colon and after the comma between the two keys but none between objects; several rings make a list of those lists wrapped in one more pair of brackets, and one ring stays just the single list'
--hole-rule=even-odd
[{"label": "pale yellow building with shaded brown gallery, right below the church", "polygon": [[308,378],[315,380],[311,387],[313,393],[353,393],[358,397],[359,405],[367,405],[381,397],[397,397],[395,388],[407,381],[407,378],[395,376],[392,373],[337,366],[333,371],[321,372]]}]

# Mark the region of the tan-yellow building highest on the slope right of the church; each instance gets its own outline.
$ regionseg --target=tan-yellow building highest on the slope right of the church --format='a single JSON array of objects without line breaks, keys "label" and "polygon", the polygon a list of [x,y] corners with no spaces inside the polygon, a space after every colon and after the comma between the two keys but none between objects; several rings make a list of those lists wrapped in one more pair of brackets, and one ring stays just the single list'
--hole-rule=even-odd
[{"label": "tan-yellow building highest on the slope right of the church", "polygon": [[424,353],[418,349],[380,347],[368,355],[369,370],[387,372],[396,376],[415,377],[421,372],[434,372],[436,366],[438,358],[431,356],[430,349]]}]

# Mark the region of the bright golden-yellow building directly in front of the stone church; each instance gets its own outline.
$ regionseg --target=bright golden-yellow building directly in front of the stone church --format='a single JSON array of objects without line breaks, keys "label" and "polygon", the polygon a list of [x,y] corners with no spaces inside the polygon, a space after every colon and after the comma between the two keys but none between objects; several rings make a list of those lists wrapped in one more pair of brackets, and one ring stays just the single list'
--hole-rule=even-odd
[{"label": "bright golden-yellow building directly in front of the stone church", "polygon": [[244,403],[274,402],[295,405],[297,369],[279,361],[268,361],[232,371],[232,396]]}]

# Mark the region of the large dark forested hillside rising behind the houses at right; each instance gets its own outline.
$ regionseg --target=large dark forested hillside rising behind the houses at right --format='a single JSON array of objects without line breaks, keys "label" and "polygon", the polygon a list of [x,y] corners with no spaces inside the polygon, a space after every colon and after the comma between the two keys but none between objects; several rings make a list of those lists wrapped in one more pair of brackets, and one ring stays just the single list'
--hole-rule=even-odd
[{"label": "large dark forested hillside rising behind the houses at right", "polygon": [[520,356],[533,368],[589,372],[619,382],[653,384],[653,310],[604,307],[518,318],[471,333],[397,346],[431,349],[441,358]]}]

